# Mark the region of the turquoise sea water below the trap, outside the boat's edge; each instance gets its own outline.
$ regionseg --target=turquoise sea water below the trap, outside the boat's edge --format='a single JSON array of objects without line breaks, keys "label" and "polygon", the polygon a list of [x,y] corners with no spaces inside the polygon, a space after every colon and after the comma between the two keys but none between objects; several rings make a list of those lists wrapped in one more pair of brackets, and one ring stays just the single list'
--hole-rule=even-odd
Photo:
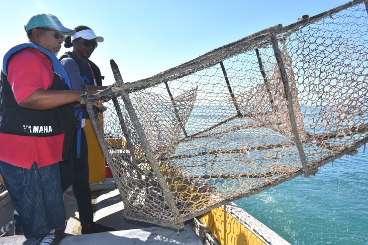
[{"label": "turquoise sea water below the trap, outside the boat's edge", "polygon": [[368,244],[368,146],[235,203],[291,244]]}]

